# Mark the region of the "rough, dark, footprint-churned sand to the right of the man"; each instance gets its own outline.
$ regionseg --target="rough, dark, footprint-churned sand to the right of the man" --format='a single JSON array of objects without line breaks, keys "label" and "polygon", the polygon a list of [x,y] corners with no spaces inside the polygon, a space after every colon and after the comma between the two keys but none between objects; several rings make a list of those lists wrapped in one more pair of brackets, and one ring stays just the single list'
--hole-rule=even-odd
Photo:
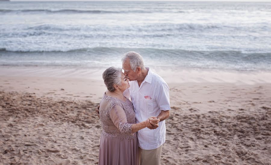
[{"label": "rough, dark, footprint-churned sand to the right of the man", "polygon": [[235,115],[171,112],[163,164],[271,164],[271,108]]}]

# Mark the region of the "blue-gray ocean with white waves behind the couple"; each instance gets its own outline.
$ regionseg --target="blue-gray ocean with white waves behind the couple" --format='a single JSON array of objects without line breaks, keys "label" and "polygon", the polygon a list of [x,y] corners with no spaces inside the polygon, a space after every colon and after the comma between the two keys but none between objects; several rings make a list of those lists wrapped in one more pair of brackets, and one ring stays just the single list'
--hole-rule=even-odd
[{"label": "blue-gray ocean with white waves behind the couple", "polygon": [[0,66],[271,71],[271,2],[0,2]]}]

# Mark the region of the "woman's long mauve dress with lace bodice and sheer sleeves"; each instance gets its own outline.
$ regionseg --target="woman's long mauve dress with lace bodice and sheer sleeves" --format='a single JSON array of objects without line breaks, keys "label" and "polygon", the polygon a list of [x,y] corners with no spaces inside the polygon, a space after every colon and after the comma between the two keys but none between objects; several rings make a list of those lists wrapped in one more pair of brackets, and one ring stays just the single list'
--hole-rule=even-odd
[{"label": "woman's long mauve dress with lace bodice and sheer sleeves", "polygon": [[104,94],[100,102],[102,133],[100,165],[138,165],[137,133],[132,133],[136,114],[132,102]]}]

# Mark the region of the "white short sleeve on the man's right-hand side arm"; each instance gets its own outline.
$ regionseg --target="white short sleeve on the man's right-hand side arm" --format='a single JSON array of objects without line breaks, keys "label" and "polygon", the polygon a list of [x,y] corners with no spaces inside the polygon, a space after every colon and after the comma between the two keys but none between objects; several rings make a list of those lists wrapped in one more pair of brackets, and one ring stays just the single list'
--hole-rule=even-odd
[{"label": "white short sleeve on the man's right-hand side arm", "polygon": [[163,83],[157,90],[156,101],[158,107],[161,111],[170,110],[170,97],[169,97],[169,87],[167,83]]}]

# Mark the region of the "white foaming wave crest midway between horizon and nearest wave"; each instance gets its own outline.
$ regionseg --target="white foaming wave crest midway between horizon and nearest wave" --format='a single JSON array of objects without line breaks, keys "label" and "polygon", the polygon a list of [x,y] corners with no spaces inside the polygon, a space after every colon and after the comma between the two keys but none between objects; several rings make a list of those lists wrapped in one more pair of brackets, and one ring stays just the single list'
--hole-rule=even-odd
[{"label": "white foaming wave crest midway between horizon and nearest wave", "polygon": [[[219,24],[198,24],[198,23],[155,23],[155,24],[145,24],[145,25],[137,25],[137,26],[95,26],[95,25],[86,25],[86,26],[78,26],[78,25],[54,25],[54,24],[42,24],[37,26],[28,26],[28,27],[16,27],[14,32],[11,34],[10,32],[5,33],[2,31],[0,36],[4,35],[46,35],[47,33],[59,32],[59,34],[63,34],[63,31],[75,31],[75,33],[70,33],[70,35],[78,35],[78,31],[86,32],[86,36],[88,37],[89,32],[99,32],[99,31],[114,31],[123,33],[118,33],[120,35],[128,35],[130,32],[150,32],[150,33],[138,33],[139,35],[146,35],[147,37],[157,37],[161,34],[164,35],[174,35],[173,32],[178,33],[183,30],[185,31],[203,31],[203,30],[211,30],[211,29],[230,29],[235,27],[225,27]],[[155,34],[157,32],[157,34]],[[66,32],[64,32],[67,34]],[[128,33],[128,34],[126,34]],[[81,33],[84,34],[84,33]],[[134,34],[133,34],[134,35]],[[153,35],[153,36],[152,36]],[[157,36],[156,36],[157,35]]]}]

